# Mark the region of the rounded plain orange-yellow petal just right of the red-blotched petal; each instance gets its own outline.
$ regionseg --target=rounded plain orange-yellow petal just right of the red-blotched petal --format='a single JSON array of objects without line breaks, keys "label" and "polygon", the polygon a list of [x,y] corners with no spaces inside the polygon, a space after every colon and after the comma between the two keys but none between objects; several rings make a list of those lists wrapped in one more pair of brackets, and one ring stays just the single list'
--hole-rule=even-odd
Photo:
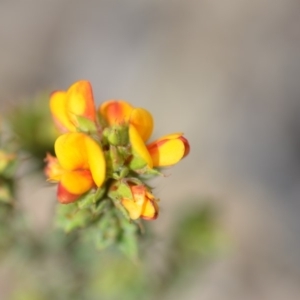
[{"label": "rounded plain orange-yellow petal just right of the red-blotched petal", "polygon": [[152,115],[143,108],[135,108],[130,114],[129,123],[132,124],[142,140],[147,141],[153,131],[153,118]]}]

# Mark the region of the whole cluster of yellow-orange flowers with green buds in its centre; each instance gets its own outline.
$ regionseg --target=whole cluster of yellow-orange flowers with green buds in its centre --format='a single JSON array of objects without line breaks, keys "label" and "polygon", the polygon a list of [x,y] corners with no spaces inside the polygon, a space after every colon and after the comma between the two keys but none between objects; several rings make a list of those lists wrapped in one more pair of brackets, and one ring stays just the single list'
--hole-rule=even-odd
[{"label": "whole cluster of yellow-orange flowers with green buds in its centre", "polygon": [[124,100],[108,100],[97,110],[91,84],[84,80],[52,93],[50,110],[61,135],[56,157],[47,154],[45,174],[58,183],[58,201],[110,199],[128,219],[156,219],[158,199],[145,178],[160,175],[161,168],[189,153],[183,134],[149,143],[154,122],[147,110]]}]

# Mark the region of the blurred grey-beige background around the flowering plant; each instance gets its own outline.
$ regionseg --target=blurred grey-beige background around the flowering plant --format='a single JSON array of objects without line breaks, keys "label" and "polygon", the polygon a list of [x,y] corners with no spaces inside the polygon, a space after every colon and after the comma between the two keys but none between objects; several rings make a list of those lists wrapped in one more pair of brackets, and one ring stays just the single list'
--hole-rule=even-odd
[{"label": "blurred grey-beige background around the flowering plant", "polygon": [[[296,0],[0,2],[2,116],[87,79],[97,104],[126,99],[152,112],[154,137],[183,131],[189,139],[190,155],[156,183],[161,214],[148,224],[148,264],[168,273],[170,248],[180,247],[171,237],[191,211],[213,211],[215,254],[196,267],[193,258],[192,273],[156,299],[299,299],[299,13]],[[18,194],[35,236],[51,231],[55,189],[41,173],[21,179]],[[187,228],[181,238],[203,234]],[[1,298],[48,299],[30,294],[32,282],[13,292],[24,263],[1,263]],[[105,274],[102,288],[107,276],[118,281]],[[154,299],[147,291],[145,299]]]}]

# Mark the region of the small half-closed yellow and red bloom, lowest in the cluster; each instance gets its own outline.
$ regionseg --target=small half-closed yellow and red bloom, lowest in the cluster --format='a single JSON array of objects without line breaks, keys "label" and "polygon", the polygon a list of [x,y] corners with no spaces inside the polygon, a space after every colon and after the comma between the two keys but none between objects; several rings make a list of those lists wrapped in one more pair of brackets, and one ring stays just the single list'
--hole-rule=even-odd
[{"label": "small half-closed yellow and red bloom, lowest in the cluster", "polygon": [[122,205],[128,211],[132,220],[142,218],[145,220],[155,220],[158,217],[157,199],[144,185],[130,185],[132,198],[123,198]]}]

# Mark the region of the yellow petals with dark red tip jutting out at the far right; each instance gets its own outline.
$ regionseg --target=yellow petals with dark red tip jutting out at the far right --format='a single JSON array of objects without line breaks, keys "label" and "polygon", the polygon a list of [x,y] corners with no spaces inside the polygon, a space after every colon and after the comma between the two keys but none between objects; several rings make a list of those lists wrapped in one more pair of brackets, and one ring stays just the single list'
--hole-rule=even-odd
[{"label": "yellow petals with dark red tip jutting out at the far right", "polygon": [[177,164],[190,152],[188,140],[182,133],[169,134],[147,145],[153,167],[169,167]]}]

